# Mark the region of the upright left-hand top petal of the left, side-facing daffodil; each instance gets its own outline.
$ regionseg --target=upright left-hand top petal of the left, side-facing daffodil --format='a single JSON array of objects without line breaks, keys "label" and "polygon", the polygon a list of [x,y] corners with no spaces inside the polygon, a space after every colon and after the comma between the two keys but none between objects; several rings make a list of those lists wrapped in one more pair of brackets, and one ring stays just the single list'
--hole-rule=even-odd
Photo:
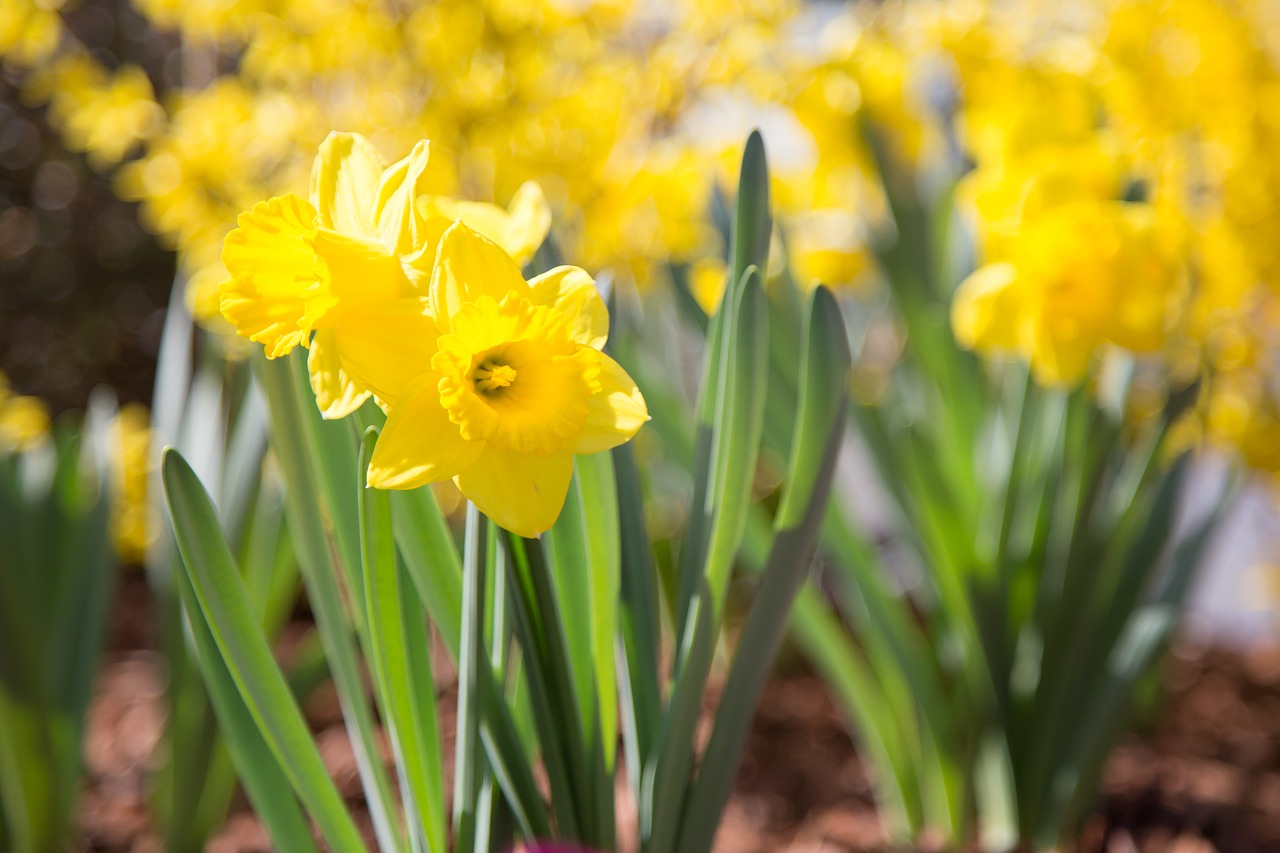
[{"label": "upright left-hand top petal of the left, side-facing daffodil", "polygon": [[311,204],[332,228],[376,240],[374,202],[385,165],[358,133],[330,133],[311,165]]}]

